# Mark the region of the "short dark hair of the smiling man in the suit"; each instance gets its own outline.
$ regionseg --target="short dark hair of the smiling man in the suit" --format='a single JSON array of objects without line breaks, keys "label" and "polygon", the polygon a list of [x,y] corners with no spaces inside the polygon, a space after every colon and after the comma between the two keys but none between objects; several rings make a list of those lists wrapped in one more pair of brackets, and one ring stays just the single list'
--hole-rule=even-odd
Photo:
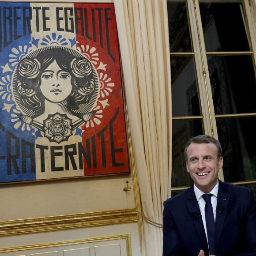
[{"label": "short dark hair of the smiling man in the suit", "polygon": [[184,155],[185,155],[186,162],[188,162],[187,149],[188,149],[188,146],[191,143],[198,143],[198,144],[201,144],[201,143],[207,143],[207,144],[208,143],[213,143],[213,144],[216,145],[216,147],[218,149],[218,160],[219,160],[220,157],[222,157],[222,147],[221,147],[221,144],[219,143],[219,141],[217,139],[215,139],[214,137],[211,137],[209,135],[198,135],[198,136],[190,138],[188,140],[188,142],[186,143],[186,145],[185,145]]}]

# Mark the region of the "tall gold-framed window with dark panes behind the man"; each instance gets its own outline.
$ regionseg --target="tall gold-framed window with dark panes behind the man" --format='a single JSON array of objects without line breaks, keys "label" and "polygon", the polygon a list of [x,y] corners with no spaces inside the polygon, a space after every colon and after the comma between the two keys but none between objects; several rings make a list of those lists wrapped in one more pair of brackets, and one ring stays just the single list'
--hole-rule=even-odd
[{"label": "tall gold-framed window with dark panes behind the man", "polygon": [[222,144],[220,179],[256,194],[256,8],[252,0],[167,0],[167,6],[172,195],[192,184],[184,143],[199,134]]}]

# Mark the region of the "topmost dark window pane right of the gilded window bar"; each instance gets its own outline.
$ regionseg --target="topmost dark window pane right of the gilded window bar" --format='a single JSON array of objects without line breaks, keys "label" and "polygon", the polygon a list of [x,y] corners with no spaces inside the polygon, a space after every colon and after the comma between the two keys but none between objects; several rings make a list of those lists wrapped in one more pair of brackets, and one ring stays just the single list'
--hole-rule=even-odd
[{"label": "topmost dark window pane right of the gilded window bar", "polygon": [[200,14],[207,52],[250,50],[242,0],[201,0]]}]

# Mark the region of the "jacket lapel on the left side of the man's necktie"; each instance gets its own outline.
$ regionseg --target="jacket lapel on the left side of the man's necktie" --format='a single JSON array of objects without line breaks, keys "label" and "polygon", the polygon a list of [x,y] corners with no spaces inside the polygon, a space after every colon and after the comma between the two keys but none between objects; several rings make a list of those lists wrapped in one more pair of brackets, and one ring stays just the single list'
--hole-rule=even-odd
[{"label": "jacket lapel on the left side of the man's necktie", "polygon": [[196,195],[194,192],[193,185],[188,189],[188,196],[187,196],[187,207],[189,215],[192,217],[192,222],[196,228],[198,236],[200,237],[201,243],[203,245],[203,250],[205,253],[209,253],[208,245],[207,245],[207,238],[204,232],[203,227],[203,220],[200,213],[200,208],[198,202],[196,200]]}]

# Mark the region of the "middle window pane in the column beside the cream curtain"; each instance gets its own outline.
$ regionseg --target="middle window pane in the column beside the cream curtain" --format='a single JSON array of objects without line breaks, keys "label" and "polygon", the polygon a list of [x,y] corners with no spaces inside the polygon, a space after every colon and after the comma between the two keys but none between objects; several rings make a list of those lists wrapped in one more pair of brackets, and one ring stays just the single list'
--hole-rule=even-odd
[{"label": "middle window pane in the column beside the cream curtain", "polygon": [[171,56],[170,61],[173,117],[200,116],[193,58]]}]

